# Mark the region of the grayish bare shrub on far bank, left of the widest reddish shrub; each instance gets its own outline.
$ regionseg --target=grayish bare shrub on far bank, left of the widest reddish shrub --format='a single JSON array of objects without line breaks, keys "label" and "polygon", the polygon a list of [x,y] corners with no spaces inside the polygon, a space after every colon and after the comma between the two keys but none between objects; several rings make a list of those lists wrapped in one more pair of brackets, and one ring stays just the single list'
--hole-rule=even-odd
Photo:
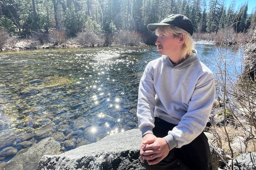
[{"label": "grayish bare shrub on far bank, left of the widest reddish shrub", "polygon": [[94,46],[104,44],[104,38],[102,36],[94,34],[92,32],[79,32],[76,37],[76,42],[84,46]]}]

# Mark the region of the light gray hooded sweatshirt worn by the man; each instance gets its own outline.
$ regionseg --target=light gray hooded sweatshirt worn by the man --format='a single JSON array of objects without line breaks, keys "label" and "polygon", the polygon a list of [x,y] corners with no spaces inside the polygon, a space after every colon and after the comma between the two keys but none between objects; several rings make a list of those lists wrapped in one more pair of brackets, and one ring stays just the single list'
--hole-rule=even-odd
[{"label": "light gray hooded sweatshirt worn by the man", "polygon": [[215,81],[196,50],[178,65],[163,55],[146,66],[138,95],[142,135],[153,133],[154,117],[175,124],[164,137],[172,150],[189,144],[204,130],[215,99]]}]

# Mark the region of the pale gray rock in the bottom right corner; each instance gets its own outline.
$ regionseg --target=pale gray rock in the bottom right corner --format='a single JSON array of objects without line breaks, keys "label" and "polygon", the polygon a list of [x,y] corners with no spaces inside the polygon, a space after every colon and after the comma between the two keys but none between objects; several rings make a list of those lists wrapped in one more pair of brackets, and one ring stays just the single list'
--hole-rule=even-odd
[{"label": "pale gray rock in the bottom right corner", "polygon": [[241,154],[233,163],[234,170],[256,170],[256,152]]}]

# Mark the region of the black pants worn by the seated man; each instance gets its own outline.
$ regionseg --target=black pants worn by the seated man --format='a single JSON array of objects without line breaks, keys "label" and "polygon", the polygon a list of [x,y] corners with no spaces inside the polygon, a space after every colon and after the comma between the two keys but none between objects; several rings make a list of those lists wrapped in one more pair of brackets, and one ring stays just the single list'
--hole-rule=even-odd
[{"label": "black pants worn by the seated man", "polygon": [[[156,117],[153,133],[157,137],[164,137],[175,126]],[[211,170],[211,162],[208,139],[202,132],[191,143],[170,150],[158,164],[148,165],[145,161],[143,166],[147,170]]]}]

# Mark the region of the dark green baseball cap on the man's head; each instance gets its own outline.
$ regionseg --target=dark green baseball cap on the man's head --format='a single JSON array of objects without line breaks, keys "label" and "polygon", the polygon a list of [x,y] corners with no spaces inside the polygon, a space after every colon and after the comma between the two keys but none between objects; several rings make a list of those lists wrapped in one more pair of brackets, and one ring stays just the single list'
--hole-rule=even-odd
[{"label": "dark green baseball cap on the man's head", "polygon": [[181,14],[171,14],[163,19],[160,23],[148,24],[148,30],[155,31],[160,26],[177,26],[187,31],[190,35],[192,35],[194,32],[191,20]]}]

